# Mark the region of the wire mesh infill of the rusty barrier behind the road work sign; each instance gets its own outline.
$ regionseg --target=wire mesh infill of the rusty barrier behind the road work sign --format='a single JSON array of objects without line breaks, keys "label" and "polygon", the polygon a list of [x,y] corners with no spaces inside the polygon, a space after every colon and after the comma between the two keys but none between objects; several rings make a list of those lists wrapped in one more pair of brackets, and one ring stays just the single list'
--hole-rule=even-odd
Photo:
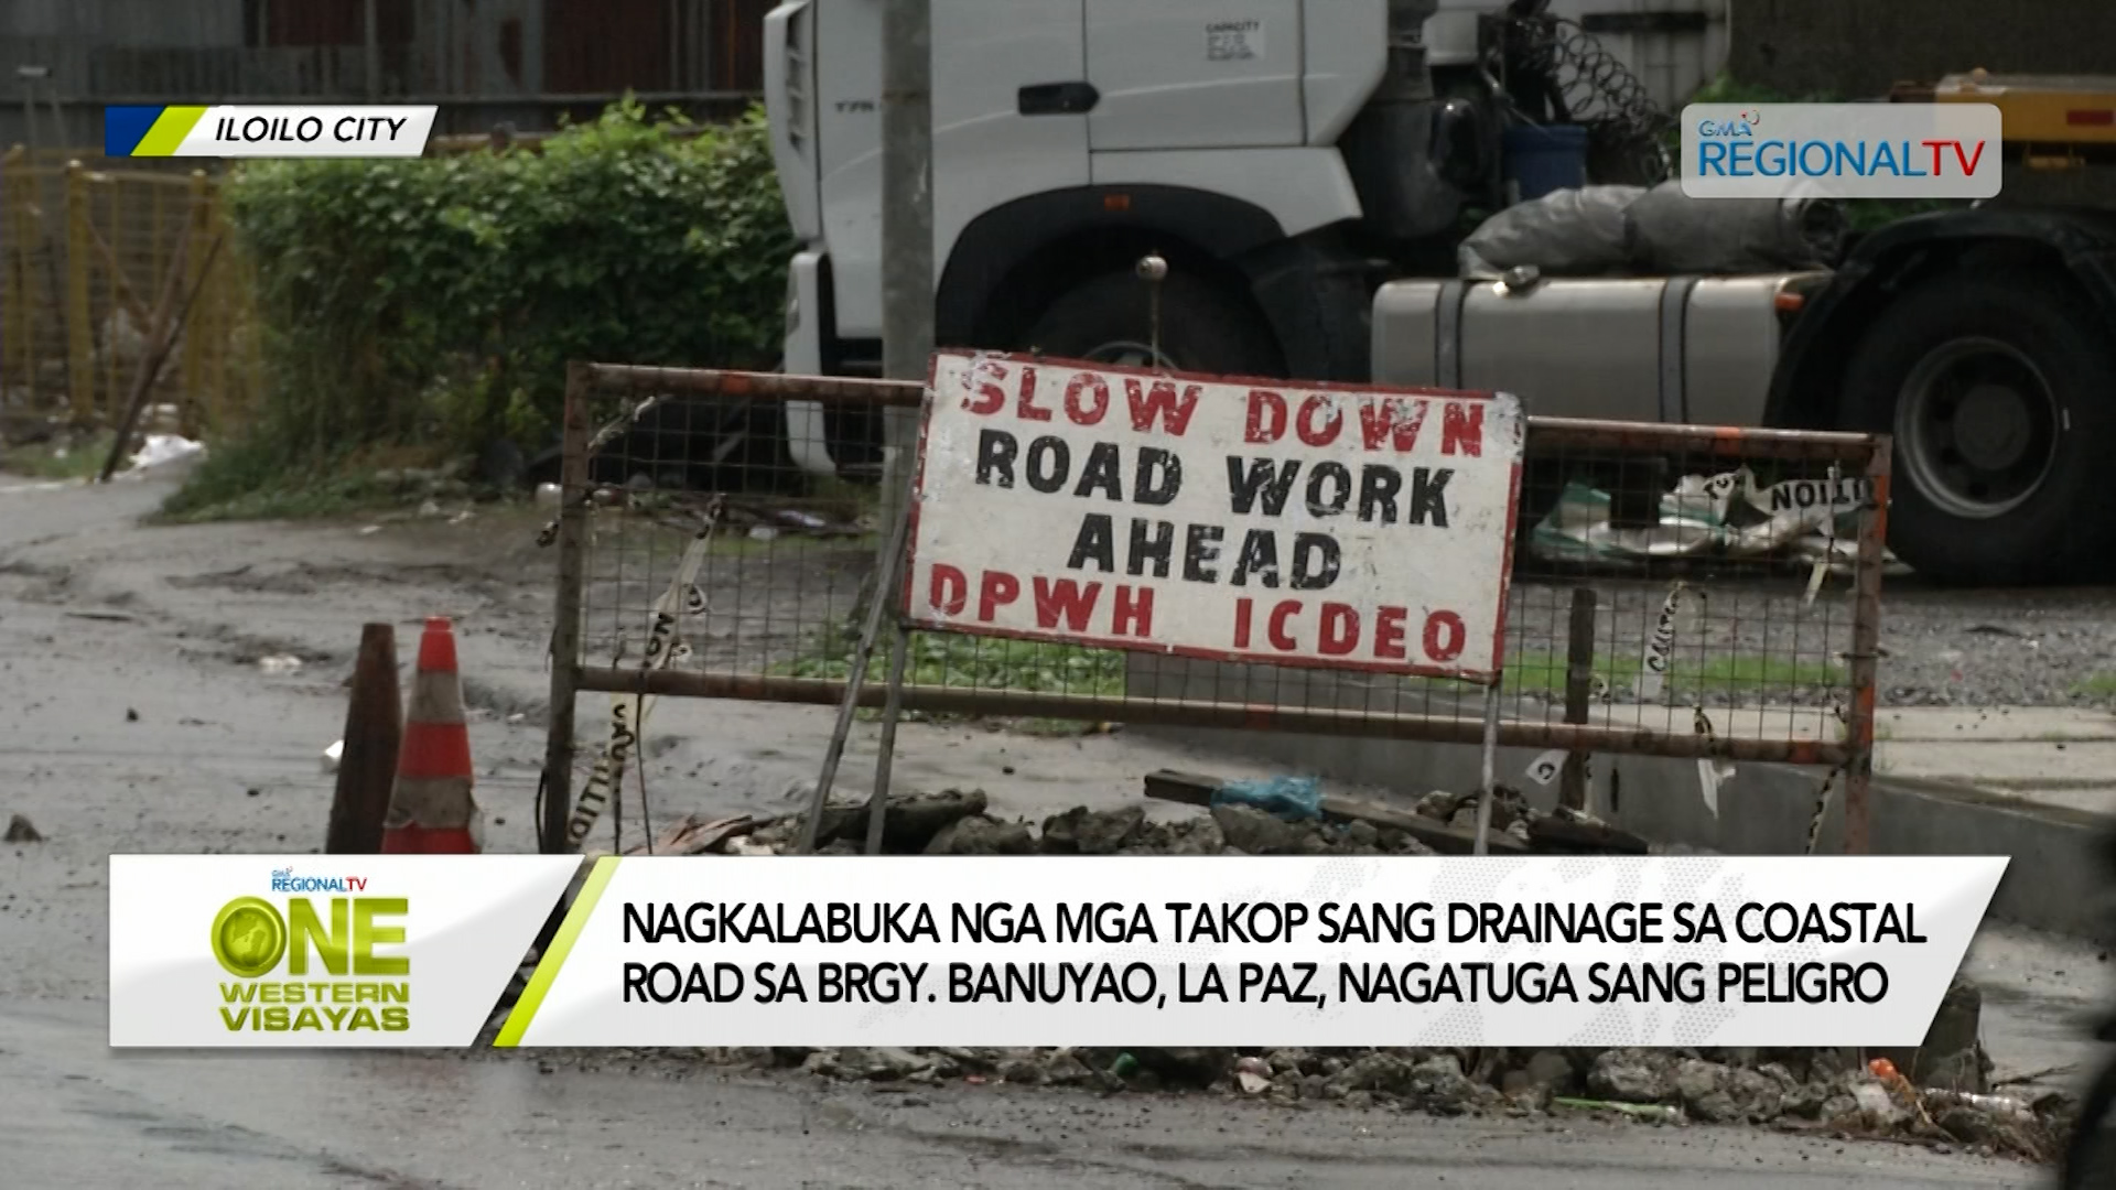
[{"label": "wire mesh infill of the rusty barrier behind the road work sign", "polygon": [[[876,426],[923,385],[578,366],[569,392],[552,536],[571,529],[561,582],[580,616],[559,656],[580,688],[838,701],[884,529]],[[1871,739],[1885,459],[1885,438],[1849,434],[1530,419],[1500,741],[1854,762]],[[904,707],[1475,741],[1485,692],[916,631]]]}]

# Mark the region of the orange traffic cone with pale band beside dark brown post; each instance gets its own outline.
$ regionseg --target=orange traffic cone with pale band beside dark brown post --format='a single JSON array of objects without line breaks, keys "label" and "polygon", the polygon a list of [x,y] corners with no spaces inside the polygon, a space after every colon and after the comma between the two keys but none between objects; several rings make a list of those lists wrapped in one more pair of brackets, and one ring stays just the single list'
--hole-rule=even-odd
[{"label": "orange traffic cone with pale band beside dark brown post", "polygon": [[434,616],[419,637],[398,779],[383,822],[383,855],[476,855],[478,805],[470,800],[470,728],[455,675],[455,631]]}]

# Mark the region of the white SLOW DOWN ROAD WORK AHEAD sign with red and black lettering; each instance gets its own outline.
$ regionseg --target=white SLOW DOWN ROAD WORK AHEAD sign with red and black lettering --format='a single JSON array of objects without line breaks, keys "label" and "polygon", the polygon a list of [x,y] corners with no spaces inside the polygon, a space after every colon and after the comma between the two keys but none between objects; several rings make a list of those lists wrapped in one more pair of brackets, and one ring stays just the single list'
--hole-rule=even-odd
[{"label": "white SLOW DOWN ROAD WORK AHEAD sign with red and black lettering", "polygon": [[1217,661],[1492,680],[1511,396],[942,351],[906,616]]}]

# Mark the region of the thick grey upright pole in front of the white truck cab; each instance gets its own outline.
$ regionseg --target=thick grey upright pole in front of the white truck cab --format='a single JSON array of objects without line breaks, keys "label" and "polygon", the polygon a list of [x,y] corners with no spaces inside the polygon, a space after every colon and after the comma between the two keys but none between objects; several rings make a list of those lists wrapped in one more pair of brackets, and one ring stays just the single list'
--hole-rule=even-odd
[{"label": "thick grey upright pole in front of the white truck cab", "polygon": [[[882,4],[882,375],[923,381],[933,356],[933,0]],[[904,517],[918,413],[882,411],[882,525]],[[876,559],[889,574],[891,557]],[[887,599],[876,591],[876,599]]]}]

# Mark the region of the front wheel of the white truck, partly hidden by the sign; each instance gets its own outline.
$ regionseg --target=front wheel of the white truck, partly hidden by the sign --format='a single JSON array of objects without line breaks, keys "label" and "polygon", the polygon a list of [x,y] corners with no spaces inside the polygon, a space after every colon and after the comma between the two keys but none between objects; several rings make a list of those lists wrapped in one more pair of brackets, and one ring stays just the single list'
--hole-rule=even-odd
[{"label": "front wheel of the white truck, partly hidden by the sign", "polygon": [[1162,282],[1160,330],[1155,360],[1147,282],[1126,271],[1060,294],[1030,328],[1026,345],[1045,356],[1128,368],[1284,375],[1284,356],[1263,318],[1202,277],[1172,273]]}]

